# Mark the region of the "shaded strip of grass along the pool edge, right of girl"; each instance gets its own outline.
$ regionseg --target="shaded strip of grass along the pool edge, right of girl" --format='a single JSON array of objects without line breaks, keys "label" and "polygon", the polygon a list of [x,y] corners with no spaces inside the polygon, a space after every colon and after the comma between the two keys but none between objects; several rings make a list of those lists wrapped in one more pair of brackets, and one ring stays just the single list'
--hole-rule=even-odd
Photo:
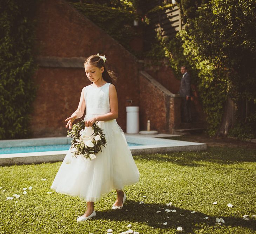
[{"label": "shaded strip of grass along the pool edge, right of girl", "polygon": [[[171,152],[168,154],[147,154],[134,156],[134,159],[167,161],[182,166],[205,166],[201,162],[237,164],[256,162],[256,150],[227,147],[207,147],[207,151]],[[199,163],[200,162],[200,163]]]}]

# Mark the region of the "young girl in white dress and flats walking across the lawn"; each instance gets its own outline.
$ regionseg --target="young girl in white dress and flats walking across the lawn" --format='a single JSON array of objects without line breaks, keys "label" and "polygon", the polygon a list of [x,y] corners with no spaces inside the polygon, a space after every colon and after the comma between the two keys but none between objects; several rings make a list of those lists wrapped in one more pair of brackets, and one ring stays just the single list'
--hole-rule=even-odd
[{"label": "young girl in white dress and flats walking across the lawn", "polygon": [[116,122],[118,117],[117,93],[113,81],[114,73],[105,67],[106,57],[92,55],[84,63],[87,78],[92,84],[82,89],[78,109],[65,121],[71,129],[75,119],[84,118],[88,137],[94,132],[92,125],[97,122],[106,138],[106,146],[93,159],[82,155],[72,157],[72,148],[68,150],[52,188],[58,193],[79,196],[87,201],[86,212],[77,218],[84,221],[96,215],[94,202],[113,189],[117,199],[112,209],[122,208],[126,200],[123,192],[125,185],[139,181],[140,173],[129,150],[126,138]]}]

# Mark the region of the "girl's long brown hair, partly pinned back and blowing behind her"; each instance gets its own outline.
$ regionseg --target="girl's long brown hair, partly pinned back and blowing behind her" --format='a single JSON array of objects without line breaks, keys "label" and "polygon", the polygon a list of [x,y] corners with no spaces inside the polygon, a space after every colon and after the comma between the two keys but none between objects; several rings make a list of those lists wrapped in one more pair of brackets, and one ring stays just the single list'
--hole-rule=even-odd
[{"label": "girl's long brown hair, partly pinned back and blowing behind her", "polygon": [[102,73],[103,80],[105,80],[106,82],[111,83],[111,84],[116,82],[117,78],[116,78],[115,74],[113,73],[113,71],[107,71],[107,69],[105,67],[105,62],[103,61],[103,59],[101,57],[99,57],[97,55],[91,55],[90,57],[86,58],[83,66],[85,66],[86,64],[93,65],[97,68],[104,67],[104,71]]}]

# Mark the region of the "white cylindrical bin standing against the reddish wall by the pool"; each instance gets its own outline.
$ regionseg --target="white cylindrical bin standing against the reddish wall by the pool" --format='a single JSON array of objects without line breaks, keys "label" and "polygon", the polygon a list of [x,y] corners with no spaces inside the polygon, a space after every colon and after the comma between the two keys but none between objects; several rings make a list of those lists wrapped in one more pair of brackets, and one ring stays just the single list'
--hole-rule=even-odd
[{"label": "white cylindrical bin standing against the reddish wall by the pool", "polygon": [[139,106],[126,106],[126,132],[139,133]]}]

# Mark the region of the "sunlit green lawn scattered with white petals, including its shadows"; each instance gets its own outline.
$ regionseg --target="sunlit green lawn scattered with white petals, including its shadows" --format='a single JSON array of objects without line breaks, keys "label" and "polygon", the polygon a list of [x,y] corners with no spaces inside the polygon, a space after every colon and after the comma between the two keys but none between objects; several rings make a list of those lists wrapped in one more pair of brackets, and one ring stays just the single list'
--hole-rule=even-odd
[{"label": "sunlit green lawn scattered with white petals, including its shadows", "polygon": [[[256,221],[251,217],[256,215],[255,155],[254,149],[208,147],[206,152],[134,156],[141,177],[125,188],[123,209],[111,209],[113,191],[95,203],[95,218],[78,223],[86,202],[50,189],[61,162],[1,167],[0,233],[97,234],[111,228],[116,234],[128,230],[128,224],[140,234],[177,233],[178,226],[183,233],[255,233]],[[32,190],[22,194],[22,188],[29,186]],[[6,200],[14,193],[20,198]],[[171,206],[166,205],[169,202]],[[243,219],[245,214],[249,221]],[[203,219],[206,216],[209,219]],[[225,223],[215,225],[216,217]]]}]

